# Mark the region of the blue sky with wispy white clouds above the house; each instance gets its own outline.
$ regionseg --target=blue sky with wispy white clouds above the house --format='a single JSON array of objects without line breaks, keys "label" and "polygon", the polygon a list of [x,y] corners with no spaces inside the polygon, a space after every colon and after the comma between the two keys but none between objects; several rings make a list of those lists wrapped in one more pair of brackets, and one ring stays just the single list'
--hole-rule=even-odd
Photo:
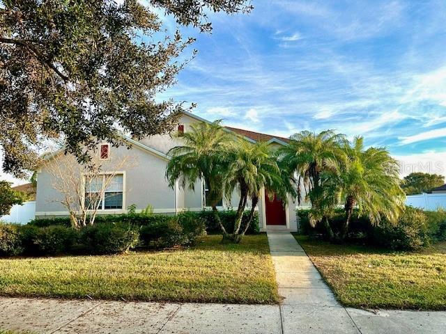
[{"label": "blue sky with wispy white clouds above the house", "polygon": [[199,54],[159,98],[280,136],[360,134],[387,146],[403,175],[446,175],[446,1],[252,4],[249,15],[210,14],[212,34],[182,29]]}]

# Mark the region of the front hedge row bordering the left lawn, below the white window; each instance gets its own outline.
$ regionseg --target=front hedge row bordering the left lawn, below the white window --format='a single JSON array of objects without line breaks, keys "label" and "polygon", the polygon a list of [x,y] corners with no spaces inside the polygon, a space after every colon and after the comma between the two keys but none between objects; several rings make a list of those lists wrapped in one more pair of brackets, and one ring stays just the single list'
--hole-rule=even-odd
[{"label": "front hedge row bordering the left lawn, below the white window", "polygon": [[79,230],[60,223],[0,224],[0,255],[113,254],[137,246],[187,246],[204,233],[204,221],[188,213],[146,225],[99,222]]}]

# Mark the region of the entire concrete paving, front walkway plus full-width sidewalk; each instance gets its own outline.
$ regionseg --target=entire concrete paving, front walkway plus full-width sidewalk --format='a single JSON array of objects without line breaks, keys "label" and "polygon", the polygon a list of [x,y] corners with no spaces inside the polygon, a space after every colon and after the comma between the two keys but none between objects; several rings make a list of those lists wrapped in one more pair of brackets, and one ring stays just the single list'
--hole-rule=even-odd
[{"label": "entire concrete paving, front walkway plus full-width sidewalk", "polygon": [[0,298],[0,329],[33,333],[446,333],[446,312],[343,308],[289,232],[268,231],[282,305]]}]

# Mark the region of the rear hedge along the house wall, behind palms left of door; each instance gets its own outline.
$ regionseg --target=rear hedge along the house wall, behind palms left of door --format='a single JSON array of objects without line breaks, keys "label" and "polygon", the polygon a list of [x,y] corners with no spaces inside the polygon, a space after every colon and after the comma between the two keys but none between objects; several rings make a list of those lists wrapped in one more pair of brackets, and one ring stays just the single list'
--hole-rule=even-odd
[{"label": "rear hedge along the house wall, behind palms left of door", "polygon": [[[247,221],[247,216],[249,212],[245,212],[243,215],[242,225],[245,225]],[[195,217],[199,220],[202,220],[206,225],[206,232],[208,234],[219,234],[220,226],[215,220],[215,216],[211,211],[200,211],[200,212],[184,212],[183,214],[190,215],[191,217]],[[233,225],[236,221],[236,212],[233,210],[228,211],[220,211],[219,213],[220,219],[224,228],[228,232],[233,232]],[[144,214],[116,214],[116,215],[98,215],[95,218],[95,223],[130,223],[133,225],[152,225],[155,223],[167,223],[171,221],[174,216],[169,216],[165,214],[153,214],[153,215],[144,215]],[[35,225],[38,227],[45,227],[50,225],[64,225],[70,226],[70,218],[38,218],[29,222],[29,225]],[[254,218],[247,230],[247,234],[257,234],[259,233],[259,215],[254,214]]]}]

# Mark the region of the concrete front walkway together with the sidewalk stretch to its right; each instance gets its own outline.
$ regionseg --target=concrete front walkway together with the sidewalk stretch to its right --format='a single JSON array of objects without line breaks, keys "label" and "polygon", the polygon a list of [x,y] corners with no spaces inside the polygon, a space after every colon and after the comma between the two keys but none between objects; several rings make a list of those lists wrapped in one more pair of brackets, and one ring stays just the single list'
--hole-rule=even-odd
[{"label": "concrete front walkway together with the sidewalk stretch to its right", "polygon": [[282,333],[446,333],[446,312],[377,311],[342,307],[289,232],[268,231]]}]

